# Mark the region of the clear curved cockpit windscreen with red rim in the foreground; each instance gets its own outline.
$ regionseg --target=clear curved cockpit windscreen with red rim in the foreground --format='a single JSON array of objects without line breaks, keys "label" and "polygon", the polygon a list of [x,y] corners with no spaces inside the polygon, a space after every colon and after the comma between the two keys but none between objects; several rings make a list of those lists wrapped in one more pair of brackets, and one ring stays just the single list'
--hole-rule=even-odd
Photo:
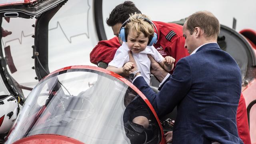
[{"label": "clear curved cockpit windscreen with red rim in the foreground", "polygon": [[[37,134],[85,144],[159,143],[159,123],[146,102],[127,82],[88,67],[60,70],[41,80],[28,95],[6,144]],[[148,128],[132,122],[135,108],[148,112]]]}]

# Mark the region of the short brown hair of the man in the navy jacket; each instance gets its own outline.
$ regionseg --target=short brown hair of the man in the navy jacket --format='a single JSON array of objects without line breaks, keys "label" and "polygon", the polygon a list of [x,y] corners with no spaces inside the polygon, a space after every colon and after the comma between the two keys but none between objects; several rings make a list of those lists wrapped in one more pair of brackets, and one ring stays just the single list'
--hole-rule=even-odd
[{"label": "short brown hair of the man in the navy jacket", "polygon": [[186,28],[190,31],[190,34],[193,34],[195,27],[201,28],[206,38],[218,38],[220,23],[211,12],[200,11],[189,16]]}]

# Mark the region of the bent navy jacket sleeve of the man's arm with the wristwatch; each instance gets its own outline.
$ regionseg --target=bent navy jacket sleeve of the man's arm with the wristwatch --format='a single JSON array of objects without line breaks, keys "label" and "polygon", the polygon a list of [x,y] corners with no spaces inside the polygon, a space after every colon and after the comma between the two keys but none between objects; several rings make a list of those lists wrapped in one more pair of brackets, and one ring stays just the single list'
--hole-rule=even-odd
[{"label": "bent navy jacket sleeve of the man's arm with the wristwatch", "polygon": [[163,116],[172,112],[190,90],[192,84],[190,68],[188,60],[182,60],[177,65],[172,77],[157,94],[153,92],[142,76],[136,78],[133,84],[148,98],[158,116]]}]

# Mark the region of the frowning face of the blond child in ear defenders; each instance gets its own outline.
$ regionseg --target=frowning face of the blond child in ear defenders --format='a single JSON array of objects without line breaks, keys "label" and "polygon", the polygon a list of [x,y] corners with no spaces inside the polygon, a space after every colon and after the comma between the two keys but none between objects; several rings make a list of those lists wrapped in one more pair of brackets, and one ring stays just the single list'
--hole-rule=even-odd
[{"label": "frowning face of the blond child in ear defenders", "polygon": [[138,36],[137,32],[133,32],[132,29],[128,30],[127,45],[132,52],[139,53],[145,50],[147,44],[148,37],[145,37],[143,33]]}]

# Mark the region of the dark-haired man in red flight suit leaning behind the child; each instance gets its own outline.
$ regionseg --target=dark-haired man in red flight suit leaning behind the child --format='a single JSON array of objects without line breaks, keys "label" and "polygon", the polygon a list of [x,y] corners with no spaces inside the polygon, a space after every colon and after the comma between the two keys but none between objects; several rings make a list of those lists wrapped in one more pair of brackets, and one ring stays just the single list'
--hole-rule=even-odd
[{"label": "dark-haired man in red flight suit leaning behind the child", "polygon": [[[90,61],[93,64],[97,64],[100,61],[108,64],[113,60],[116,50],[121,46],[118,34],[122,23],[129,18],[129,14],[133,14],[135,12],[141,13],[134,3],[130,1],[119,4],[112,10],[109,18],[107,19],[107,24],[112,27],[116,37],[110,40],[102,40],[98,42],[98,45],[96,45],[90,53]],[[153,23],[156,25],[158,30],[158,41],[154,44],[154,47],[158,52],[160,52],[160,54],[162,54],[163,57],[172,56],[176,60],[174,63],[175,68],[176,63],[180,58],[189,55],[188,51],[184,48],[185,38],[183,37],[182,26],[156,21],[153,21]]]}]

